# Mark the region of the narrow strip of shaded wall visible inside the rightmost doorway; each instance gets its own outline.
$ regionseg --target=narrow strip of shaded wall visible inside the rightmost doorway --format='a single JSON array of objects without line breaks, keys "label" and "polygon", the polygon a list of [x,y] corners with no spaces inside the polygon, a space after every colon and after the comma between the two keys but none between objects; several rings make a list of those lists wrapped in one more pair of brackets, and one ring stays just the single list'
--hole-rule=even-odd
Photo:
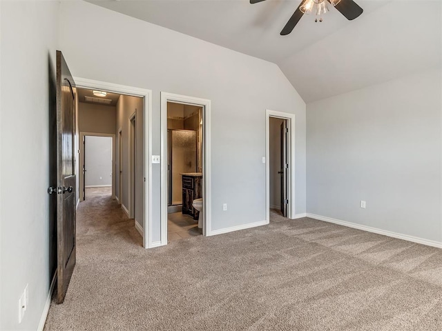
[{"label": "narrow strip of shaded wall visible inside the rightmost doorway", "polygon": [[281,206],[281,124],[284,119],[270,117],[269,121],[269,171],[270,171],[270,208]]}]

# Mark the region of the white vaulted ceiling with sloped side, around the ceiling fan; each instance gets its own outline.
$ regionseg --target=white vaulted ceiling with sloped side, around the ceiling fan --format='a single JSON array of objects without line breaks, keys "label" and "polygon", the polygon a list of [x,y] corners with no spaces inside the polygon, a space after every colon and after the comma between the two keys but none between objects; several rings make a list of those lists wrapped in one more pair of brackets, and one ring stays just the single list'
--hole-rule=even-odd
[{"label": "white vaulted ceiling with sloped side, around the ceiling fan", "polygon": [[280,36],[300,0],[88,0],[276,63],[307,103],[441,65],[442,1],[356,1],[354,21],[329,6]]}]

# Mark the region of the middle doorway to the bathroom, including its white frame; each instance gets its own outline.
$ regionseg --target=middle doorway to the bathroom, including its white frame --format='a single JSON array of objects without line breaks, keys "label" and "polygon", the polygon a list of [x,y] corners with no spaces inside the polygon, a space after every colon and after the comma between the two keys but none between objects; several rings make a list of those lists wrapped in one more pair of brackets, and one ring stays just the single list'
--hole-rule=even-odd
[{"label": "middle doorway to the bathroom, including its white frame", "polygon": [[210,101],[162,92],[162,245],[210,233]]}]

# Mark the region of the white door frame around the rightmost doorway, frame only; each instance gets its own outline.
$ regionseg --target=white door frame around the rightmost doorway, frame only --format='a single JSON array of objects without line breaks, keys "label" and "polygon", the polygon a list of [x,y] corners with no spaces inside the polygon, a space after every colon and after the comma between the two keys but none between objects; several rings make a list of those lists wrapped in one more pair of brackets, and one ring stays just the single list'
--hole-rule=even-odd
[{"label": "white door frame around the rightmost doorway, frame only", "polygon": [[287,159],[289,160],[289,189],[287,206],[287,217],[294,219],[295,212],[295,114],[289,112],[276,112],[267,109],[265,111],[265,208],[266,208],[266,224],[270,223],[270,117],[277,119],[286,119],[287,128],[289,129],[289,139],[287,139]]}]

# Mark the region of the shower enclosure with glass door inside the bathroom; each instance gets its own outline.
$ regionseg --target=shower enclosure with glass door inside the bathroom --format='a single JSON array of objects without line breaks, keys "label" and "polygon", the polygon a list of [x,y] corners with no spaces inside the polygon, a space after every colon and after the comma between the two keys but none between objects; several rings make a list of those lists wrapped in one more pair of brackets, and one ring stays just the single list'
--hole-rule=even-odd
[{"label": "shower enclosure with glass door inside the bathroom", "polygon": [[168,205],[182,204],[183,173],[197,172],[197,132],[167,130]]}]

